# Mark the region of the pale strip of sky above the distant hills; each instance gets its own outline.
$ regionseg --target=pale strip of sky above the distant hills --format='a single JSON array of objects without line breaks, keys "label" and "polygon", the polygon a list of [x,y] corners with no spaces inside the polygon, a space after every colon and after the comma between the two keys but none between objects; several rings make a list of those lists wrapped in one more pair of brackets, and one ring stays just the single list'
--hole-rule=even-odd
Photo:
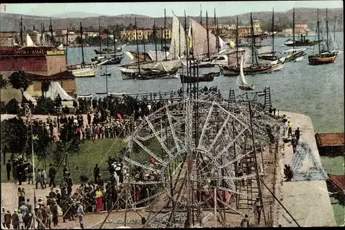
[{"label": "pale strip of sky above the distant hills", "polygon": [[[6,6],[5,6],[6,5]],[[172,16],[172,10],[177,16],[199,16],[200,5],[203,15],[206,10],[213,15],[216,9],[217,17],[240,15],[248,12],[275,12],[295,8],[343,8],[343,1],[170,1],[170,2],[137,2],[137,3],[1,3],[1,12],[21,15],[53,16],[66,12],[86,12],[100,15],[146,15],[149,17]]]}]

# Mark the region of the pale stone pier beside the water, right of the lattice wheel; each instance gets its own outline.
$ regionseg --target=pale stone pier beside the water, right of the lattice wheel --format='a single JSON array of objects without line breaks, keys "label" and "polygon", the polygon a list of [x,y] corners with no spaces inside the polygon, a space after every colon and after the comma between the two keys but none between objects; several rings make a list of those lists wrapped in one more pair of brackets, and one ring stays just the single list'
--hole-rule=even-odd
[{"label": "pale stone pier beside the water, right of the lattice wheel", "polygon": [[[299,142],[308,144],[313,153],[313,157],[306,157],[302,161],[302,169],[313,170],[313,160],[321,165],[319,151],[315,141],[315,133],[311,117],[299,113],[281,112],[286,114],[288,121],[293,123],[293,132],[297,127],[301,130]],[[287,125],[286,125],[287,126]],[[287,135],[287,133],[286,133]],[[285,137],[286,137],[285,135]],[[297,151],[300,146],[297,146]],[[296,152],[297,153],[297,152]],[[293,147],[291,143],[284,143],[282,155],[280,155],[281,182],[277,183],[277,194],[284,207],[293,216],[301,227],[331,227],[337,226],[333,207],[328,195],[326,180],[284,180],[284,164],[290,164],[293,160]],[[294,172],[295,173],[295,172]],[[282,227],[297,227],[296,222],[282,207],[278,207],[275,226],[281,224]]]}]

